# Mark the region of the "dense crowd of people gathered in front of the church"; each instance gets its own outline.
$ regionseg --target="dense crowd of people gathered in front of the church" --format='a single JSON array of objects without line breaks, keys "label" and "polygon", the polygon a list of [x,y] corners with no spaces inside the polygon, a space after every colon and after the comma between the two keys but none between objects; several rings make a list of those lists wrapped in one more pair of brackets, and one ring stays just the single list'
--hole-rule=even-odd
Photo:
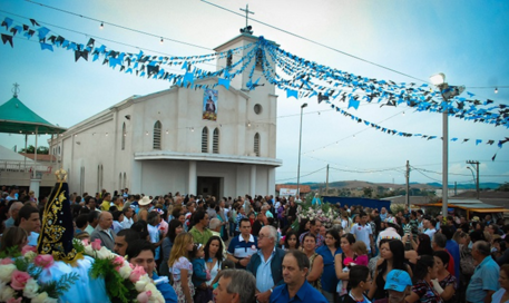
[{"label": "dense crowd of people gathered in front of the church", "polygon": [[[37,245],[48,199],[2,192],[0,253]],[[168,276],[157,284],[166,302],[509,302],[509,225],[489,215],[337,205],[326,228],[298,218],[294,197],[125,188],[69,199],[75,237]]]}]

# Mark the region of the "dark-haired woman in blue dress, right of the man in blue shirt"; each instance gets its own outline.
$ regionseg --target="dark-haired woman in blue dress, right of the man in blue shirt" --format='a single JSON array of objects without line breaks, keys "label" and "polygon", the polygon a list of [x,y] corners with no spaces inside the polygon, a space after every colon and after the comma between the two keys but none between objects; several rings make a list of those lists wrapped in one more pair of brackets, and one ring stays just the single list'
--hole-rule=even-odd
[{"label": "dark-haired woman in blue dress, right of the man in blue shirt", "polygon": [[329,229],[325,232],[325,245],[316,250],[316,253],[323,258],[322,294],[330,303],[334,302],[339,282],[335,275],[334,257],[342,253],[340,245],[340,233],[336,229]]}]

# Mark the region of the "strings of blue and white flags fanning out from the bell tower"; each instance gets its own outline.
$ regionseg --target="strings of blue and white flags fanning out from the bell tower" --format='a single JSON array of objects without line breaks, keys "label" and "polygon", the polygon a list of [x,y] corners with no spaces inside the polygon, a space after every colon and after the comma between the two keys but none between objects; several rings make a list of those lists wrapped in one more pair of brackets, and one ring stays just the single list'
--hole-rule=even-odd
[{"label": "strings of blue and white flags fanning out from the bell tower", "polygon": [[[224,86],[228,89],[231,80],[243,74],[246,68],[249,68],[246,87],[249,90],[254,90],[256,87],[264,85],[261,81],[261,77],[253,79],[256,66],[261,66],[265,80],[285,90],[287,98],[316,97],[319,104],[325,101],[325,104],[345,117],[350,117],[358,123],[364,123],[366,126],[382,133],[402,137],[422,137],[428,140],[438,138],[437,136],[410,134],[382,127],[341,109],[334,102],[348,102],[348,108],[353,107],[355,110],[359,109],[361,101],[378,102],[380,107],[405,105],[417,111],[443,113],[447,110],[451,117],[509,127],[509,107],[507,105],[496,105],[490,99],[483,101],[474,99],[476,95],[471,92],[467,92],[469,98],[456,96],[450,100],[444,100],[442,94],[448,91],[433,90],[428,84],[420,86],[413,82],[397,84],[391,80],[356,76],[305,60],[278,48],[274,42],[265,40],[263,37],[260,37],[255,43],[223,52],[188,57],[151,56],[144,53],[141,50],[138,53],[131,53],[110,50],[104,45],[97,47],[92,38],[86,45],[70,41],[60,35],[52,35],[49,28],[40,26],[35,19],[29,20],[30,23],[26,25],[14,22],[13,19],[6,17],[0,25],[8,32],[1,33],[2,43],[10,45],[13,48],[13,37],[17,35],[27,39],[32,39],[36,36],[41,50],[53,51],[53,48],[70,50],[74,51],[75,61],[79,59],[88,61],[91,57],[92,61],[101,60],[102,65],[109,68],[116,69],[119,67],[119,72],[167,80],[172,85],[194,89],[211,89],[217,86]],[[238,60],[233,60],[234,55],[242,55],[245,50],[248,51],[241,56]],[[219,70],[207,71],[197,67],[199,63],[222,58],[227,58],[229,63]],[[165,70],[165,68],[169,67],[179,68],[180,74]],[[276,72],[275,67],[282,72]],[[217,82],[195,84],[196,80],[211,77],[217,77]],[[451,141],[461,143],[469,140],[470,138],[451,139]],[[472,141],[476,145],[483,143],[482,139],[472,139]],[[490,139],[486,144],[493,145],[495,141]],[[509,138],[498,140],[497,146],[501,148],[507,141],[509,141]]]}]

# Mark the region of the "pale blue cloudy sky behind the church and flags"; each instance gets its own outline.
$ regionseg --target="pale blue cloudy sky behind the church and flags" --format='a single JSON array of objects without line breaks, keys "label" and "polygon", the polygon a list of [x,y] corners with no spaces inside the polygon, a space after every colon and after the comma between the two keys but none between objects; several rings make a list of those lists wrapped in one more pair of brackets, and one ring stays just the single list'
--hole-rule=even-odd
[{"label": "pale blue cloudy sky behind the church and flags", "polygon": [[[245,26],[245,18],[199,0],[0,0],[0,20],[9,17],[28,23],[27,18],[32,18],[68,40],[87,43],[94,37],[96,45],[126,52],[143,49],[145,53],[170,56],[213,53],[215,47],[236,37]],[[450,85],[464,85],[476,98],[509,105],[508,1],[211,0],[211,3],[239,13],[239,8],[248,4],[254,11],[252,18],[272,26],[251,20],[255,36],[264,36],[307,60],[363,77],[418,85],[443,72]],[[97,20],[105,22],[104,29]],[[6,33],[4,29],[0,31]],[[160,43],[159,37],[175,41],[165,39]],[[75,62],[71,51],[41,50],[35,38],[31,41],[14,38],[13,42],[13,48],[0,45],[0,104],[12,97],[12,85],[18,82],[19,99],[62,127],[82,121],[133,95],[169,88],[167,81],[121,74],[100,61]],[[304,102],[309,106],[302,117],[301,183],[325,182],[329,165],[330,182],[403,184],[407,160],[412,167],[410,182],[441,183],[441,114],[418,113],[405,106],[380,107],[375,102],[361,102],[358,110],[341,105],[352,115],[382,127],[438,137],[405,138],[358,124],[324,102],[317,104],[316,98],[288,99],[283,90],[276,94],[280,96],[276,157],[283,160],[276,168],[276,183],[297,179],[298,126]],[[473,183],[467,160],[481,163],[481,183],[509,182],[509,144],[501,149],[497,144],[486,144],[489,139],[498,143],[509,137],[507,127],[450,117],[449,137],[470,138],[464,144],[461,139],[449,144],[450,184]],[[41,136],[39,143],[46,138]],[[476,139],[483,143],[476,146]],[[29,144],[33,143],[32,136]],[[22,148],[25,137],[1,134],[0,145]],[[496,159],[491,160],[496,153]]]}]

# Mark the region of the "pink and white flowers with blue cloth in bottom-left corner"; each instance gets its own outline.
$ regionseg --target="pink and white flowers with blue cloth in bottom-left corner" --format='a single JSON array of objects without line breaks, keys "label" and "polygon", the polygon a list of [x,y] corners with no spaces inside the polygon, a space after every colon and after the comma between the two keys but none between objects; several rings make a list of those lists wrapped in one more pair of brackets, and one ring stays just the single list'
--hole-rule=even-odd
[{"label": "pink and white flowers with blue cloth in bottom-left corner", "polygon": [[37,255],[30,246],[23,247],[22,254],[17,247],[9,247],[0,257],[0,302],[57,303],[79,278],[70,273],[58,281],[39,282],[39,275],[55,261],[52,255]]}]

